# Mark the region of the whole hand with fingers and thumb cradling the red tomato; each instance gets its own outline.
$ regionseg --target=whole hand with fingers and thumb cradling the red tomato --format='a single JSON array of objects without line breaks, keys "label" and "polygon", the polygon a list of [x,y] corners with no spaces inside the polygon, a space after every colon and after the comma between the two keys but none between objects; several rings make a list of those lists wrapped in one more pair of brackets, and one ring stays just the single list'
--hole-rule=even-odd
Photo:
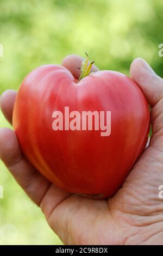
[{"label": "whole hand with fingers and thumb cradling the red tomato", "polygon": [[[68,56],[62,65],[77,78],[76,67],[82,60]],[[153,136],[122,188],[109,200],[87,199],[55,187],[24,158],[14,131],[0,129],[2,161],[65,244],[163,245],[163,199],[158,197],[163,185],[163,80],[141,58],[131,64],[130,74],[152,106]],[[15,96],[12,90],[1,96],[10,123]]]}]

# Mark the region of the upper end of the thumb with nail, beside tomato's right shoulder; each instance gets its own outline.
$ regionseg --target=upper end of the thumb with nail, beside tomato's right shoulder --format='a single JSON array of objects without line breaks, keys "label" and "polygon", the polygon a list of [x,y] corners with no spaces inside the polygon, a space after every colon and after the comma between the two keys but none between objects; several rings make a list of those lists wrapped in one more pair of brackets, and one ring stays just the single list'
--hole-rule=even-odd
[{"label": "upper end of the thumb with nail, beside tomato's right shoulder", "polygon": [[137,58],[130,66],[131,78],[142,89],[148,103],[154,106],[163,95],[163,80],[142,58]]}]

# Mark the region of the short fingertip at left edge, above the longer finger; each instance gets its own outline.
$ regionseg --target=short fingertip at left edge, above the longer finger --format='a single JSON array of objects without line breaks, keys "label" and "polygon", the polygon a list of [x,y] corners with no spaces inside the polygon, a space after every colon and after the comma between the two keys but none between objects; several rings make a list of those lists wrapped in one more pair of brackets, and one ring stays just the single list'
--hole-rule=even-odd
[{"label": "short fingertip at left edge, above the longer finger", "polygon": [[1,110],[5,118],[12,124],[12,112],[17,92],[15,90],[6,90],[0,98]]}]

